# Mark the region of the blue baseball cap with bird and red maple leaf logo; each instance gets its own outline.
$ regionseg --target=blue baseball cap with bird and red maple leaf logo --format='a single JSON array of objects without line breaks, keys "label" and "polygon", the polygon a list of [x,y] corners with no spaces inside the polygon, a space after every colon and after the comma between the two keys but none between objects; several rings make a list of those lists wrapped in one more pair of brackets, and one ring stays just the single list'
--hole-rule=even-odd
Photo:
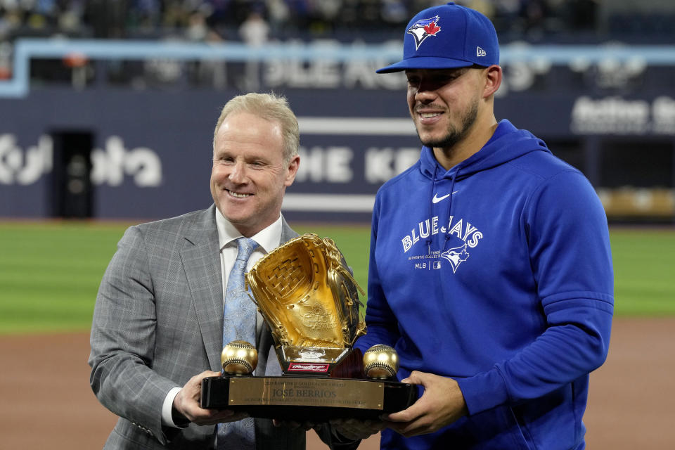
[{"label": "blue baseball cap with bird and red maple leaf logo", "polygon": [[378,73],[499,64],[497,32],[490,20],[452,2],[420,11],[406,27],[403,59]]}]

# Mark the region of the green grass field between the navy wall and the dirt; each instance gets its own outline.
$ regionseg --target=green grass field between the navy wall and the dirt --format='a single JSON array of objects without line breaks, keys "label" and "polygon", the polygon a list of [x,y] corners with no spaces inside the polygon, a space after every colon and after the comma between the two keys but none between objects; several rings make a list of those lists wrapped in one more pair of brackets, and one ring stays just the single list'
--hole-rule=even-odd
[{"label": "green grass field between the navy wall and the dirt", "polygon": [[[0,333],[88,330],[98,283],[127,224],[0,222]],[[329,236],[366,288],[367,226],[297,226]],[[615,312],[675,315],[675,230],[611,229]]]}]

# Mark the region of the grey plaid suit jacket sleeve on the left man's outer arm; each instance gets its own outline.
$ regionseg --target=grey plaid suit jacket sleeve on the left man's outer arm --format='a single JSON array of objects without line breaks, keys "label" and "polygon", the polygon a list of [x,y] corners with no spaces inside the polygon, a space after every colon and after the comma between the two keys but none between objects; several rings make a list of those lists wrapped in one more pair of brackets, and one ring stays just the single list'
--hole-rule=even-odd
[{"label": "grey plaid suit jacket sleeve on the left man's outer arm", "polygon": [[134,226],[118,243],[96,297],[90,384],[101,404],[164,444],[162,402],[176,383],[151,368],[156,320],[148,253]]}]

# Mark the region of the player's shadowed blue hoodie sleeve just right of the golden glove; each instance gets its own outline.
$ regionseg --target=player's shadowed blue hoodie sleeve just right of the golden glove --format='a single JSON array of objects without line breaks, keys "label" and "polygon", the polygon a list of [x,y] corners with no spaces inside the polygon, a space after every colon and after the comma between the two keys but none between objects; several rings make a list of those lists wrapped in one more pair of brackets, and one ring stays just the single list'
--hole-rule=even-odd
[{"label": "player's shadowed blue hoodie sleeve just right of the golden glove", "polygon": [[380,224],[380,195],[375,196],[373,207],[373,221],[371,226],[371,250],[368,263],[368,308],[366,309],[366,335],[356,341],[356,348],[366,352],[376,344],[394,347],[399,338],[397,320],[387,304],[385,293],[380,282],[378,264],[375,262],[375,248],[378,240],[378,226]]}]

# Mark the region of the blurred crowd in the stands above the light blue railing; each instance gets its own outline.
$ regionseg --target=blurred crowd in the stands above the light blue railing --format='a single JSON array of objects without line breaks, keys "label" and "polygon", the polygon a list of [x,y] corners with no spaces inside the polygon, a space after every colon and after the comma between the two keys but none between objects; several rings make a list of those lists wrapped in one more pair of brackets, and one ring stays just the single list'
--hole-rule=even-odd
[{"label": "blurred crowd in the stands above the light blue railing", "polygon": [[[0,0],[0,39],[68,37],[162,39],[193,31],[200,11],[222,39],[238,39],[251,11],[267,21],[269,37],[397,39],[403,17],[445,0]],[[506,40],[540,41],[559,33],[613,32],[618,37],[675,34],[675,1],[456,0],[491,18]],[[650,10],[650,5],[654,5]],[[659,6],[656,8],[656,6]],[[639,8],[638,8],[639,6]],[[635,10],[635,11],[634,11]],[[575,34],[579,37],[579,34]]]}]

